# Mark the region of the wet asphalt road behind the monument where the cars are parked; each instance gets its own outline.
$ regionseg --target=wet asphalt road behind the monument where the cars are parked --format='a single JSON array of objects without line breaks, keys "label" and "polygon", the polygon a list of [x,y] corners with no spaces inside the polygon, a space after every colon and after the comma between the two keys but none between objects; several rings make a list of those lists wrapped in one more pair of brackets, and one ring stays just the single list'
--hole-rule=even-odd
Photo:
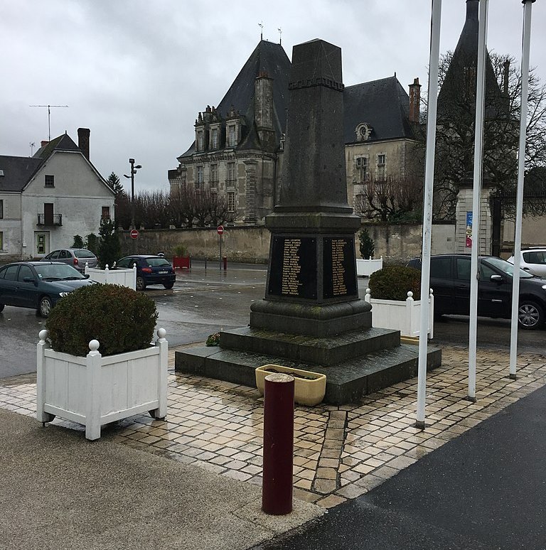
[{"label": "wet asphalt road behind the monument where the cars are parked", "polygon": [[[228,271],[218,264],[194,262],[190,271],[178,272],[172,290],[152,286],[144,292],[154,298],[159,311],[158,328],[167,331],[169,345],[198,343],[219,330],[245,326],[250,305],[264,297],[266,266],[230,264]],[[358,281],[360,297],[365,295],[366,279]],[[36,343],[45,319],[33,310],[6,306],[0,313],[0,378],[36,371]],[[444,317],[434,324],[434,344],[466,346],[469,320]],[[501,319],[478,320],[478,346],[508,350],[510,322]],[[546,330],[519,330],[520,352],[544,353]]]}]

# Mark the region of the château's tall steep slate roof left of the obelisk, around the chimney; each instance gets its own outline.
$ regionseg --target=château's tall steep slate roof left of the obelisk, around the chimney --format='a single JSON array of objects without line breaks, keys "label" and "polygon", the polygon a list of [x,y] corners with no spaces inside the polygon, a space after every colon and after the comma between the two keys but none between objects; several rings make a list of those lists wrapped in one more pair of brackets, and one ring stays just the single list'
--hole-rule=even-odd
[{"label": "ch\u00e2teau's tall steep slate roof left of the obelisk, around the chimney", "polygon": [[[247,123],[252,124],[254,120],[255,80],[260,74],[266,73],[267,76],[273,79],[273,126],[278,141],[287,124],[286,107],[288,104],[289,72],[290,60],[282,45],[264,40],[259,41],[230,89],[216,107],[216,112],[225,119],[233,106],[236,111],[245,116]],[[248,130],[249,134],[242,142],[241,149],[250,149],[257,146],[257,134],[253,131],[252,126]],[[189,156],[194,152],[195,142],[181,156]]]}]

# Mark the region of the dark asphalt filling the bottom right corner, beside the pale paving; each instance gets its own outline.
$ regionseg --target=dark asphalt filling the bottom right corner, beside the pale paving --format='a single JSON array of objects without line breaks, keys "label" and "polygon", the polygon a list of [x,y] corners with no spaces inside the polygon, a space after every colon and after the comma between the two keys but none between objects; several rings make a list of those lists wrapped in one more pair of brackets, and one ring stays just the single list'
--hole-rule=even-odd
[{"label": "dark asphalt filling the bottom right corner, beside the pale paving", "polygon": [[546,387],[255,550],[544,550]]}]

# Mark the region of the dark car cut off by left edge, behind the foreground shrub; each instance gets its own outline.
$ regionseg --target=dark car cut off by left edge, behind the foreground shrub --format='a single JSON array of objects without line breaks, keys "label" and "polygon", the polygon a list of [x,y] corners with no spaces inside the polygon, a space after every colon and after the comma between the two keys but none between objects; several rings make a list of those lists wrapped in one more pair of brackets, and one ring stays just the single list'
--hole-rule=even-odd
[{"label": "dark car cut off by left edge, behind the foreground shrub", "polygon": [[17,261],[0,268],[0,311],[4,306],[36,309],[47,317],[69,292],[95,284],[72,266],[53,261]]}]

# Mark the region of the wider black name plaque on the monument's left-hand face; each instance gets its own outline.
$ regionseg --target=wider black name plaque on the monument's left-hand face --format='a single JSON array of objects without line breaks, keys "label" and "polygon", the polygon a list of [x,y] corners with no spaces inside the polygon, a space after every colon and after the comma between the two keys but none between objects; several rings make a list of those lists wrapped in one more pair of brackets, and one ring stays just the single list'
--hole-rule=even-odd
[{"label": "wider black name plaque on the monument's left-hand face", "polygon": [[269,294],[316,299],[316,239],[273,237]]}]

